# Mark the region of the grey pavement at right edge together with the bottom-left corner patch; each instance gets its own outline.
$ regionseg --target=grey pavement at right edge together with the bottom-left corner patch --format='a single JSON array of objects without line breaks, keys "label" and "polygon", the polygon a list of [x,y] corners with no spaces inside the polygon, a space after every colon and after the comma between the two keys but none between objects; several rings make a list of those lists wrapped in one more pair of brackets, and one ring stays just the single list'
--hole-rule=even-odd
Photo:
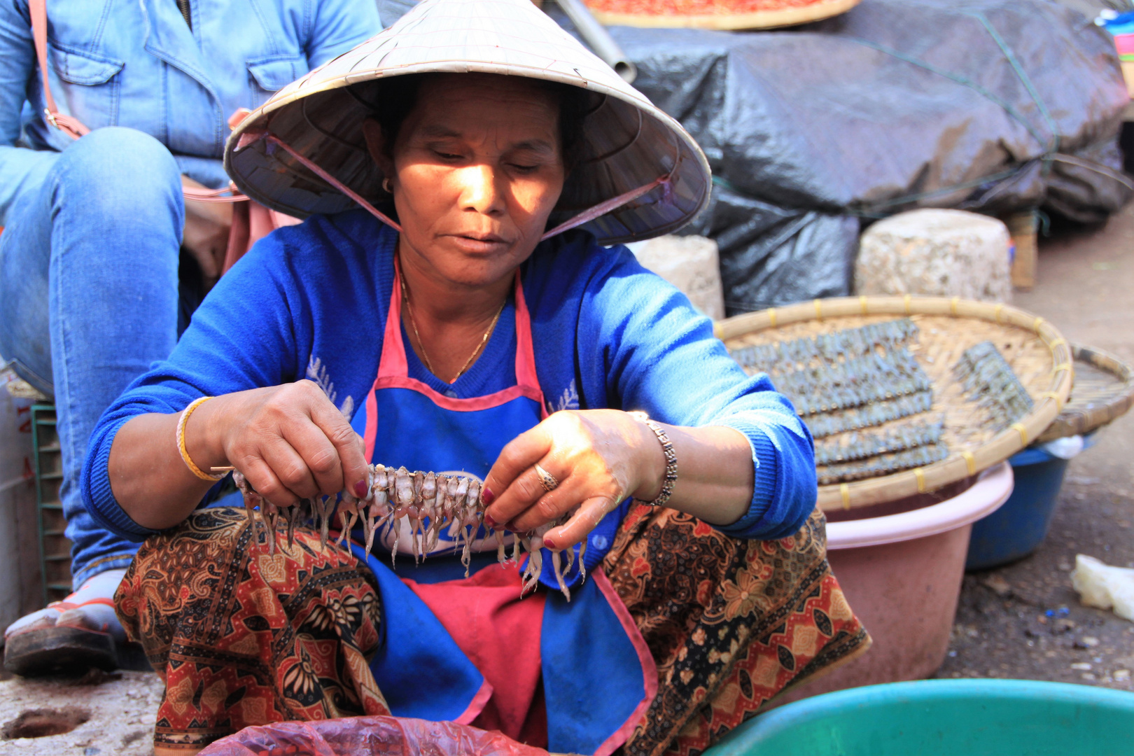
[{"label": "grey pavement at right edge together with the bottom-left corner patch", "polygon": [[[1040,281],[1016,305],[1075,342],[1134,363],[1134,204],[1099,229],[1040,240]],[[1051,532],[1014,564],[967,575],[938,677],[1058,680],[1134,690],[1134,622],[1078,604],[1075,554],[1134,567],[1134,417],[1072,460]],[[161,681],[152,673],[0,681],[0,751],[153,753]],[[58,734],[29,737],[41,732]],[[22,737],[26,736],[26,737]]]}]

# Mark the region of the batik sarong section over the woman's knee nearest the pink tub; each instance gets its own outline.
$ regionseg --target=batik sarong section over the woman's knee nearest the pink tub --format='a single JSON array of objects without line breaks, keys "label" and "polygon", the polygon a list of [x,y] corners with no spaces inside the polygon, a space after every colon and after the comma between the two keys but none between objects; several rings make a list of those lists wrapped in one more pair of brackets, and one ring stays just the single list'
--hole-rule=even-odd
[{"label": "batik sarong section over the woman's knee nearest the pink tub", "polygon": [[640,506],[603,570],[658,664],[627,756],[695,756],[788,685],[870,646],[827,563],[818,509],[792,537],[741,541]]}]

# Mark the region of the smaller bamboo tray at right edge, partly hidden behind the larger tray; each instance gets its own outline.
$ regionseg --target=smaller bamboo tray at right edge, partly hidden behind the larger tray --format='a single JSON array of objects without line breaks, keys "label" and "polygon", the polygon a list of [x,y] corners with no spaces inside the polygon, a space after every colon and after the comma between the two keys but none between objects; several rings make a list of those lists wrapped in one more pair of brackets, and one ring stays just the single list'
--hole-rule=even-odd
[{"label": "smaller bamboo tray at right edge, partly hidden behind the larger tray", "polygon": [[1125,415],[1134,404],[1134,368],[1095,347],[1072,345],[1075,383],[1070,399],[1036,441],[1090,433]]}]

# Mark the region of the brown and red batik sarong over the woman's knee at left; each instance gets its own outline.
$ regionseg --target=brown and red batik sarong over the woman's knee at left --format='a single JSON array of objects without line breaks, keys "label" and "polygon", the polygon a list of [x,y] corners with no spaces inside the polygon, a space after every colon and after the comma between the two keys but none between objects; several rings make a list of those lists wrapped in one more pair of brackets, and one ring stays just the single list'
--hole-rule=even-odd
[{"label": "brown and red batik sarong over the woman's knee at left", "polygon": [[381,612],[370,570],[296,528],[274,554],[243,509],[151,536],[115,596],[166,682],[154,745],[202,748],[249,724],[389,714],[367,665]]}]

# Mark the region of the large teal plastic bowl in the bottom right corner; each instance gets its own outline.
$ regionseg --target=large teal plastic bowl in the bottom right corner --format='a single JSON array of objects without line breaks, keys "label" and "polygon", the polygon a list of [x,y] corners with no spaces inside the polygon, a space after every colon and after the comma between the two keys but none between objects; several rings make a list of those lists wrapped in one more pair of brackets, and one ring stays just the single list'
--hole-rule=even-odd
[{"label": "large teal plastic bowl in the bottom right corner", "polygon": [[1033,680],[919,680],[775,708],[704,756],[1131,754],[1134,693]]}]

